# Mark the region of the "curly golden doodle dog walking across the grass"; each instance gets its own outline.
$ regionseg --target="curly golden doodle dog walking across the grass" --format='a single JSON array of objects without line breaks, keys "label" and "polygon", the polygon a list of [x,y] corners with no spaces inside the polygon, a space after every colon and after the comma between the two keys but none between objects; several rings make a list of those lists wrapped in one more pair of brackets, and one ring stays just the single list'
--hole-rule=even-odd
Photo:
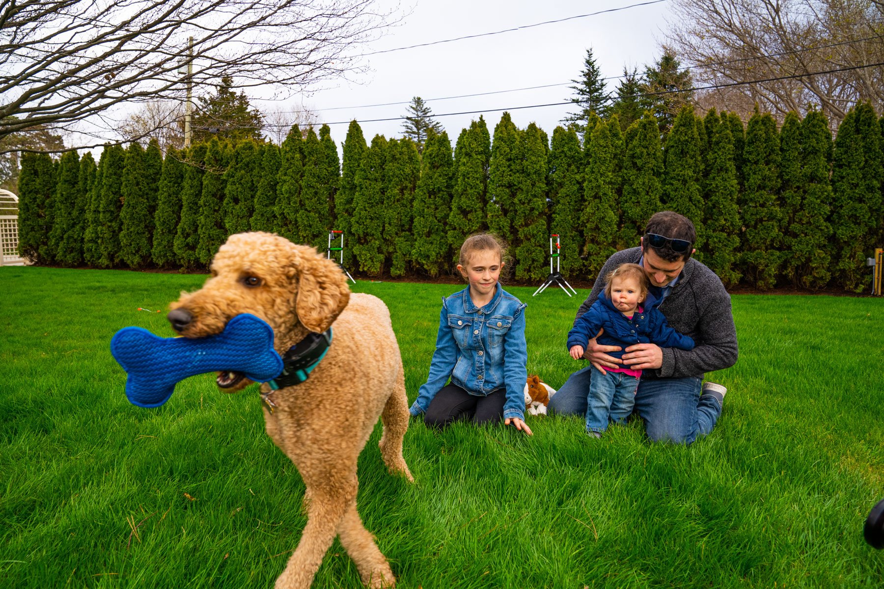
[{"label": "curly golden doodle dog walking across the grass", "polygon": [[[233,316],[252,313],[271,325],[284,357],[310,332],[333,324],[331,346],[307,381],[278,390],[261,385],[267,434],[307,487],[307,526],[276,586],[309,587],[335,536],[365,585],[394,585],[390,565],[356,510],[356,460],[378,416],[387,469],[413,480],[402,457],[408,428],[402,358],[384,303],[351,295],[341,269],[316,249],[254,232],[228,238],[202,289],[182,292],[171,309],[172,327],[186,337],[217,334]],[[235,373],[217,378],[225,392],[249,382]]]}]

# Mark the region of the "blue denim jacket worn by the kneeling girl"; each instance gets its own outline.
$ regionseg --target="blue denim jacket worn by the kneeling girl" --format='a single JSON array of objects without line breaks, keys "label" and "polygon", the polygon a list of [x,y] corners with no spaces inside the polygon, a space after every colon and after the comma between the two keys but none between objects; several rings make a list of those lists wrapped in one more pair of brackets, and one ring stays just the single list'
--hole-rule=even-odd
[{"label": "blue denim jacket worn by the kneeling girl", "polygon": [[500,288],[500,283],[494,298],[483,307],[473,304],[469,286],[443,298],[430,377],[418,391],[411,414],[426,412],[450,377],[452,384],[470,395],[486,396],[494,389],[506,388],[504,419],[524,419],[526,306]]}]

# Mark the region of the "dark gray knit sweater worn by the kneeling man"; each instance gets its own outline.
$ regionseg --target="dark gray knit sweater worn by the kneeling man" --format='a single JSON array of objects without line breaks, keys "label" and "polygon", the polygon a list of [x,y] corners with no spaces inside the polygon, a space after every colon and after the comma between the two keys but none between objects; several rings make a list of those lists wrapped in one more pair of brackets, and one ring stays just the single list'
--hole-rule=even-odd
[{"label": "dark gray knit sweater worn by the kneeling man", "polygon": [[[621,264],[637,264],[641,258],[640,247],[614,253],[608,258],[590,296],[577,310],[577,317],[586,313],[596,301],[605,287],[608,272]],[[645,370],[644,377],[703,378],[705,372],[734,366],[737,345],[730,295],[712,270],[690,258],[659,310],[666,315],[670,327],[692,337],[697,346],[690,351],[663,348],[663,365],[657,370]]]}]

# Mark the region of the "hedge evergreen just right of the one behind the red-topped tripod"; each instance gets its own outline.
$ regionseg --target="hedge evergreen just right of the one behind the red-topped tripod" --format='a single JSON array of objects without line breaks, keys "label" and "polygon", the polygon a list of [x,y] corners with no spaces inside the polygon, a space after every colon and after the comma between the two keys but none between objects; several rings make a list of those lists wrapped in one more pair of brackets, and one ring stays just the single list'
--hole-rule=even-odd
[{"label": "hedge evergreen just right of the one behind the red-topped tripod", "polygon": [[622,154],[620,121],[613,117],[596,125],[586,150],[581,217],[586,236],[586,269],[591,277],[598,276],[608,257],[617,251],[614,245],[620,227]]}]

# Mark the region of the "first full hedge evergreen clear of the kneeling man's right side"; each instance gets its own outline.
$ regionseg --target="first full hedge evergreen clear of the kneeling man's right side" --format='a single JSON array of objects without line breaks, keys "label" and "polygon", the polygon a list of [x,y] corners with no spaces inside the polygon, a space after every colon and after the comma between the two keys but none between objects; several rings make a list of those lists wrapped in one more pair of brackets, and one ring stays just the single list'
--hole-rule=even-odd
[{"label": "first full hedge evergreen clear of the kneeling man's right side", "polygon": [[745,188],[739,201],[743,221],[743,276],[758,289],[772,288],[782,262],[780,137],[770,113],[756,109],[746,127]]}]

